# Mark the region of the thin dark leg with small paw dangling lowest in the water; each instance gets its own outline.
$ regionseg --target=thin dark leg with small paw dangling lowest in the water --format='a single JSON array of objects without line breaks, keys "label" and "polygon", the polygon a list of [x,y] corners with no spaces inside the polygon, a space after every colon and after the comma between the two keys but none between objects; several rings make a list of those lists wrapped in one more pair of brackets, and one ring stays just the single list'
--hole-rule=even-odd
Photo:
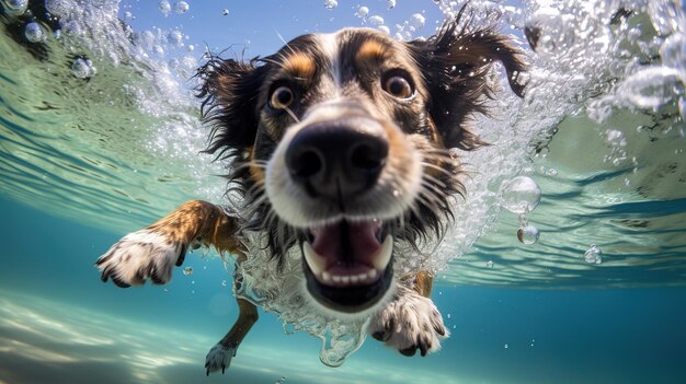
[{"label": "thin dark leg with small paw dangling lowest in the water", "polygon": [[[244,256],[240,255],[238,263],[241,263]],[[243,282],[242,277],[237,272],[233,276],[233,284],[237,291],[240,284]],[[241,344],[245,335],[250,331],[250,328],[258,321],[258,307],[245,299],[237,298],[238,302],[238,319],[231,327],[228,334],[219,340],[207,353],[205,358],[205,368],[207,369],[207,375],[210,372],[221,370],[221,373],[226,371],[231,364],[231,358],[236,356],[238,346]]]}]

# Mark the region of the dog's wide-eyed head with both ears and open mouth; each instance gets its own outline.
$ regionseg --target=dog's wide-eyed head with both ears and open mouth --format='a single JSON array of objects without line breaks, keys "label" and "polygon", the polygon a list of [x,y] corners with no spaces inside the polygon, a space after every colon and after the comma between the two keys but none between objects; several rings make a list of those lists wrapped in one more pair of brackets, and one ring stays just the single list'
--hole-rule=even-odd
[{"label": "dog's wide-eyed head with both ears and open mouth", "polygon": [[491,63],[522,91],[505,38],[456,25],[410,43],[363,28],[305,35],[201,69],[209,152],[235,158],[250,225],[276,257],[301,248],[307,289],[330,310],[373,307],[393,279],[393,244],[442,235],[461,193],[447,150],[481,144],[466,120],[484,109]]}]

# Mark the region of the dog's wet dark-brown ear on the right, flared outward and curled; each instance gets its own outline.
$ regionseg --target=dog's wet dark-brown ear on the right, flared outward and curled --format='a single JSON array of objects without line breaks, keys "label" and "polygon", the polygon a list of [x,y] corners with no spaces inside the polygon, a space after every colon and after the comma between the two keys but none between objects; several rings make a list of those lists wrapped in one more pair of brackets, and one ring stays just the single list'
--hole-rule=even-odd
[{"label": "dog's wet dark-brown ear on the right, flared outward and curled", "polygon": [[471,28],[456,20],[446,22],[436,35],[425,40],[409,42],[420,65],[430,93],[428,113],[441,132],[446,148],[471,150],[483,146],[466,126],[473,113],[487,114],[483,96],[494,90],[487,81],[493,61],[505,67],[510,86],[523,96],[524,85],[517,82],[525,70],[521,53],[508,38],[492,27]]}]

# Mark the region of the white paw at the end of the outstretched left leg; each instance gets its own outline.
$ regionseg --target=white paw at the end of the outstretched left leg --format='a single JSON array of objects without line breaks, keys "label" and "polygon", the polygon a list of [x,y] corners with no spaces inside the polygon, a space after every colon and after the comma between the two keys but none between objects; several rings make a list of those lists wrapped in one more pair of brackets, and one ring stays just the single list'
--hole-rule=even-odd
[{"label": "white paw at the end of the outstretched left leg", "polygon": [[163,284],[171,280],[172,268],[183,263],[185,253],[185,244],[146,229],[122,237],[95,266],[102,271],[102,281],[112,279],[122,288],[140,286],[148,279]]}]

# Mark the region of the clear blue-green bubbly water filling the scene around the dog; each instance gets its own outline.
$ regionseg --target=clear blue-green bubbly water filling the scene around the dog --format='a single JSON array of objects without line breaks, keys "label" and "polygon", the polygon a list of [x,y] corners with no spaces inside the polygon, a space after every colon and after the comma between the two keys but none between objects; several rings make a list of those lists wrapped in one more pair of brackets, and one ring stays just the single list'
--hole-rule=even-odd
[{"label": "clear blue-green bubbly water filling the scene around the dog", "polygon": [[[277,49],[279,35],[350,25],[410,39],[428,36],[461,2],[390,3],[53,0],[46,7],[62,18],[60,33],[49,23],[20,33],[33,40],[39,31],[44,46],[27,50],[3,32],[0,383],[679,382],[686,39],[678,2],[472,1],[476,18],[500,8],[533,70],[523,101],[503,85],[490,102],[493,118],[476,121],[492,146],[455,153],[471,177],[456,206],[459,225],[426,260],[451,333],[436,354],[404,358],[367,340],[331,369],[319,361],[319,338],[291,334],[298,318],[286,316],[286,334],[283,319],[264,313],[227,374],[207,379],[205,353],[237,315],[231,266],[198,249],[169,286],[100,283],[92,263],[121,235],[190,198],[222,201],[216,175],[226,164],[198,154],[207,128],[187,80],[205,46],[237,44],[227,56],[244,47],[252,57]],[[26,7],[0,4],[2,18]],[[619,4],[639,12],[614,22]],[[207,25],[222,32],[208,34]],[[524,43],[525,26],[540,32],[536,51]],[[517,206],[523,194],[505,187],[517,176],[538,186],[540,202],[525,193],[525,207],[511,212],[508,201]],[[528,228],[537,242],[521,243],[517,232]],[[531,243],[531,231],[522,238]]]}]

